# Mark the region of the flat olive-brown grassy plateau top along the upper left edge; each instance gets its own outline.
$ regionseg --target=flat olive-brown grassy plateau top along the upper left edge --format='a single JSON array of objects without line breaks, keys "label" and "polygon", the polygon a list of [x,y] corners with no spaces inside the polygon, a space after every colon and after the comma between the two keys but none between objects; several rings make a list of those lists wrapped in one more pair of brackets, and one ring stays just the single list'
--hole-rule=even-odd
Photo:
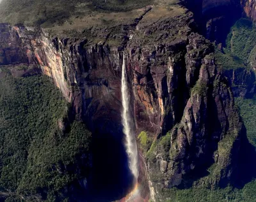
[{"label": "flat olive-brown grassy plateau top along the upper left edge", "polygon": [[157,7],[157,13],[152,13],[152,17],[173,15],[173,6],[179,6],[177,3],[179,0],[2,0],[0,22],[79,29],[95,25],[122,24],[140,17],[148,6]]}]

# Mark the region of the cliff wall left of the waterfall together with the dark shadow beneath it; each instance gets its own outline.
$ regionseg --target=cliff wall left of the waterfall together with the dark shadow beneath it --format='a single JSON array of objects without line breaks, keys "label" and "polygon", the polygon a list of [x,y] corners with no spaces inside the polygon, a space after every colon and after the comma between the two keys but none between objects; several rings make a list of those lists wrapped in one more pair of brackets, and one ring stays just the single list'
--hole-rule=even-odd
[{"label": "cliff wall left of the waterfall together with the dark shadow beneath it", "polygon": [[[52,77],[72,105],[72,115],[86,121],[92,130],[93,170],[88,180],[92,196],[88,196],[89,199],[116,200],[125,196],[132,185],[132,176],[122,144],[119,68],[122,60],[120,62],[117,49],[84,46],[83,39],[52,38],[43,30],[31,27],[1,24],[1,30],[0,65],[8,66],[13,76],[45,74]],[[15,65],[27,67],[20,71]],[[106,151],[108,155],[101,159]],[[109,166],[102,171],[102,164]]]}]

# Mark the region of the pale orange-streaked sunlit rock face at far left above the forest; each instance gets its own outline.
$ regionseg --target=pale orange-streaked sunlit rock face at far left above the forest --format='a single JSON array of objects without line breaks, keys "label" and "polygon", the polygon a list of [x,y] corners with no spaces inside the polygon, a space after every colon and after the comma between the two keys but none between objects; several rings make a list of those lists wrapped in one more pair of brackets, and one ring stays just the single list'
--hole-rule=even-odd
[{"label": "pale orange-streaked sunlit rock face at far left above the forest", "polygon": [[38,70],[52,77],[63,95],[70,100],[70,92],[63,74],[61,53],[52,49],[52,44],[44,33],[38,36],[34,33],[33,28],[1,24],[0,65],[24,64],[31,66],[31,71],[40,67]]}]

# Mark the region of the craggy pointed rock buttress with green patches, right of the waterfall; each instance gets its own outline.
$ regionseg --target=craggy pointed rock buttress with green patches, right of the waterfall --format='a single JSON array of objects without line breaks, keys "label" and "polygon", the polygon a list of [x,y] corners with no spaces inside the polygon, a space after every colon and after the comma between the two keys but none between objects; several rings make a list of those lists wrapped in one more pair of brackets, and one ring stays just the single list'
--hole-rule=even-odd
[{"label": "craggy pointed rock buttress with green patches, right of the waterfall", "polygon": [[228,182],[236,173],[242,126],[228,82],[214,58],[206,56],[182,120],[158,140],[156,159],[149,161],[157,192],[164,187],[188,186],[193,183],[192,176],[194,180],[204,177],[203,173],[213,164],[216,167],[212,173],[218,176],[211,173],[204,183]]}]

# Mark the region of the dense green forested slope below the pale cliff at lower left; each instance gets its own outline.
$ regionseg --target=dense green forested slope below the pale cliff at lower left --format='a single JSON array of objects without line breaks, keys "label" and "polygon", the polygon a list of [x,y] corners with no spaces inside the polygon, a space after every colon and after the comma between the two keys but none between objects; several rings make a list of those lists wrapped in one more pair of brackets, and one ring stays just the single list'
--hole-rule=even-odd
[{"label": "dense green forested slope below the pale cliff at lower left", "polygon": [[63,201],[65,188],[88,173],[91,134],[83,123],[65,123],[67,101],[48,77],[0,70],[1,196]]}]

